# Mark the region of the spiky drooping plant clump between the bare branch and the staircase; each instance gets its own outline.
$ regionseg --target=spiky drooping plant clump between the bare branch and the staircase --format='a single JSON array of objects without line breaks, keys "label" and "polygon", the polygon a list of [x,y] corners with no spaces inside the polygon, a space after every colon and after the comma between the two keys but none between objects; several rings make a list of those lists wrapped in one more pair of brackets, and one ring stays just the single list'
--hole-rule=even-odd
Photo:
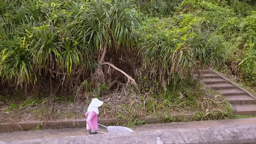
[{"label": "spiky drooping plant clump between the bare branch and the staircase", "polygon": [[[171,27],[173,22],[169,20],[153,20],[154,24],[150,22],[142,26],[146,34],[141,35],[141,53],[148,68],[158,74],[160,82],[185,78],[193,69],[224,64],[229,55],[228,48],[212,33],[210,21],[184,26],[174,23],[180,26],[177,28]],[[182,23],[183,20],[187,19],[181,19]],[[158,27],[158,32],[149,30],[154,26]]]}]

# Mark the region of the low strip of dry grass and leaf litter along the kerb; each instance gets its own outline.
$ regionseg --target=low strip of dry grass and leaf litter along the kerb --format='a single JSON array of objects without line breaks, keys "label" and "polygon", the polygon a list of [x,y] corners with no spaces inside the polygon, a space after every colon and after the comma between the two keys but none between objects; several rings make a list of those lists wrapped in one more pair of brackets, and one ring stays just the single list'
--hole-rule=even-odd
[{"label": "low strip of dry grass and leaf litter along the kerb", "polygon": [[[99,118],[128,121],[128,125],[144,124],[139,118],[151,116],[161,122],[200,121],[232,118],[232,109],[225,98],[213,90],[203,87],[196,80],[168,85],[167,92],[161,95],[145,92],[136,95],[133,89],[119,93],[108,93],[100,99],[104,101],[99,108]],[[49,120],[62,118],[84,118],[90,101],[69,101],[69,98],[47,97],[33,100],[10,102],[0,112],[2,122],[20,120]],[[192,119],[176,115],[193,115]]]}]

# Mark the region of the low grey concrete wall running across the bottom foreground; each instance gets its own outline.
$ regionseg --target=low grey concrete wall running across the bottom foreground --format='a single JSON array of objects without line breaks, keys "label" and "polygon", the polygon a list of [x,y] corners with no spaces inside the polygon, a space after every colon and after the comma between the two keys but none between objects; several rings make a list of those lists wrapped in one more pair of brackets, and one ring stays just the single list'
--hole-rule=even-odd
[{"label": "low grey concrete wall running across the bottom foreground", "polygon": [[0,144],[254,144],[256,125],[97,134],[20,141]]}]

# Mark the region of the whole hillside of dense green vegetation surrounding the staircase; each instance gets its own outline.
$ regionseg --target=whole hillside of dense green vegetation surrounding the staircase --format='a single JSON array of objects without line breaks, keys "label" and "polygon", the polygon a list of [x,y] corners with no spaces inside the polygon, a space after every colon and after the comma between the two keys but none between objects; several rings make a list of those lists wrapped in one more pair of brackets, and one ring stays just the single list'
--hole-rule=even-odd
[{"label": "whole hillside of dense green vegetation surrounding the staircase", "polygon": [[[211,67],[255,90],[254,0],[0,3],[1,93],[15,89],[41,101],[28,105],[47,109],[65,95],[70,101],[101,97],[102,117],[197,111],[197,120],[231,112],[191,79],[192,70]],[[15,100],[8,102],[9,111],[17,109]]]}]

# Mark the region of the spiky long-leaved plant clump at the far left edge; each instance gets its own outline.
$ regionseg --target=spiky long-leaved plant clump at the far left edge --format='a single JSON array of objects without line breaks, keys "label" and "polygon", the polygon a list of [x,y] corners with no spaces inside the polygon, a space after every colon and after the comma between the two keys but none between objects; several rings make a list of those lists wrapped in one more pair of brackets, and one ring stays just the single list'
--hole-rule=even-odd
[{"label": "spiky long-leaved plant clump at the far left edge", "polygon": [[20,31],[9,25],[0,28],[0,75],[4,82],[16,85],[36,81],[32,49],[26,36],[19,36]]}]

